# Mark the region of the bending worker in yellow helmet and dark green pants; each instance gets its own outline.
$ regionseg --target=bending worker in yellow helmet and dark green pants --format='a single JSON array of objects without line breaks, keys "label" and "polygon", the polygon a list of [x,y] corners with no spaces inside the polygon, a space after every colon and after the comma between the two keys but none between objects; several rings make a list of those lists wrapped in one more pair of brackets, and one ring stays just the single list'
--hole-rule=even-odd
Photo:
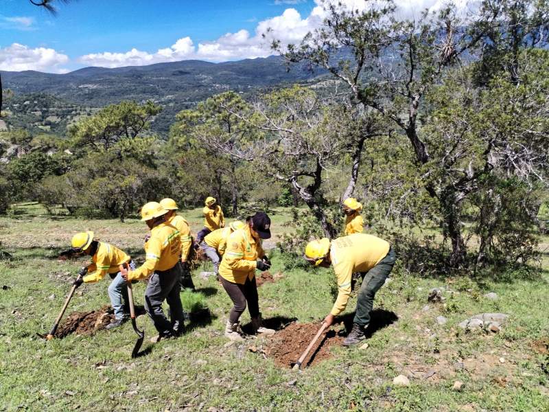
[{"label": "bending worker in yellow helmet and dark green pants", "polygon": [[315,266],[332,266],[336,273],[338,297],[324,319],[328,326],[347,307],[353,272],[360,272],[362,285],[358,293],[353,329],[344,339],[343,345],[355,345],[366,339],[364,331],[370,323],[375,293],[385,283],[396,260],[389,242],[364,233],[353,233],[332,241],[327,238],[312,240],[305,247],[305,259]]}]

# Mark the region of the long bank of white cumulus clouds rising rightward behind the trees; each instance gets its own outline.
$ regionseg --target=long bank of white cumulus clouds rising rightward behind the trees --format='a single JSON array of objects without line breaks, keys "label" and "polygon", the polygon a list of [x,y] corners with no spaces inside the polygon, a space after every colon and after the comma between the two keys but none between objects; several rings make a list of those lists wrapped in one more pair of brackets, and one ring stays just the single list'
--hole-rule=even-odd
[{"label": "long bank of white cumulus clouds rising rightward behind the trees", "polygon": [[[279,4],[298,3],[300,0],[276,0]],[[364,0],[330,0],[342,4],[349,10],[365,10],[373,2]],[[398,14],[401,18],[419,17],[426,8],[431,11],[440,10],[447,0],[397,0]],[[465,10],[478,0],[454,0],[458,9]],[[374,3],[375,4],[375,3]],[[213,62],[239,60],[242,58],[266,57],[272,54],[270,43],[275,38],[283,45],[299,43],[307,32],[319,27],[326,12],[323,9],[323,0],[315,0],[315,6],[308,16],[301,14],[294,8],[287,8],[279,16],[260,21],[255,32],[239,30],[235,33],[226,33],[213,41],[202,41],[194,45],[191,38],[180,38],[174,45],[159,49],[155,53],[131,49],[125,53],[104,52],[86,54],[79,61],[86,65],[101,67],[123,67],[150,65],[157,62],[172,62],[196,58]]]}]

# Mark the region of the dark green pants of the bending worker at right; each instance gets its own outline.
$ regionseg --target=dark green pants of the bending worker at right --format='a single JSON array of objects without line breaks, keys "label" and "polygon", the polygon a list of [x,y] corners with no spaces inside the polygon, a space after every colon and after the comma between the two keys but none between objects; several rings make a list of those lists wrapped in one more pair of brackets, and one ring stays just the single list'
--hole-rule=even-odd
[{"label": "dark green pants of the bending worker at right", "polygon": [[385,258],[373,266],[369,271],[361,273],[362,285],[358,291],[358,301],[356,303],[356,313],[354,323],[366,327],[370,323],[370,312],[373,308],[373,298],[379,288],[381,288],[385,279],[387,279],[397,257],[393,248],[390,248]]}]

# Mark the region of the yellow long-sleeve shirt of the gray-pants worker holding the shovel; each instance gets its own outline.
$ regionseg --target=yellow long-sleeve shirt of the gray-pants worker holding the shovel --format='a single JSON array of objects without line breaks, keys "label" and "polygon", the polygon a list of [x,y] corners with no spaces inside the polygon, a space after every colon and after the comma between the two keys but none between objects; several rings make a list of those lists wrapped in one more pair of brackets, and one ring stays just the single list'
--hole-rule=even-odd
[{"label": "yellow long-sleeve shirt of the gray-pants worker holding the shovel", "polygon": [[145,263],[128,273],[128,280],[146,279],[154,271],[167,271],[179,261],[181,238],[172,225],[161,223],[150,231],[150,239],[145,243]]}]

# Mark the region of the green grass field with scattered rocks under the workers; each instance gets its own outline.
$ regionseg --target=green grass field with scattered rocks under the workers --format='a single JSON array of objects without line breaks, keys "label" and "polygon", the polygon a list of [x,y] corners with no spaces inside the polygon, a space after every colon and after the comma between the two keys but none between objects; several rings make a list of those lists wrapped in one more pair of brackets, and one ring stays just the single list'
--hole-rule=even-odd
[{"label": "green grass field with scattered rocks under the workers", "polygon": [[[200,209],[185,211],[193,232]],[[280,235],[289,215],[272,215]],[[377,327],[367,348],[336,347],[329,360],[300,372],[281,369],[251,352],[261,339],[229,344],[223,336],[229,297],[215,279],[194,276],[212,317],[187,334],[152,345],[130,358],[136,335],[130,323],[113,332],[45,342],[82,260],[57,260],[76,231],[142,257],[143,222],[47,216],[36,205],[0,218],[0,241],[13,260],[0,260],[0,409],[5,411],[549,411],[549,259],[534,279],[482,285],[467,278],[423,279],[395,273],[377,293]],[[547,246],[549,240],[544,239]],[[272,272],[281,271],[277,256]],[[196,272],[207,269],[199,268]],[[281,323],[322,319],[333,302],[330,271],[283,272],[259,288],[266,319]],[[108,304],[108,279],[81,286],[67,313]],[[144,284],[135,285],[143,304]],[[430,288],[445,288],[445,304],[428,304]],[[453,292],[453,293],[451,293]],[[483,295],[495,292],[492,301]],[[189,300],[189,299],[185,299]],[[192,300],[192,299],[191,299]],[[355,306],[351,299],[345,320]],[[499,333],[464,332],[457,323],[481,312],[504,312]],[[447,318],[439,325],[438,316]],[[244,323],[249,319],[243,316]],[[139,317],[146,336],[151,321]],[[541,352],[541,353],[540,353]],[[404,374],[410,386],[393,385]],[[452,389],[454,382],[463,389]]]}]

